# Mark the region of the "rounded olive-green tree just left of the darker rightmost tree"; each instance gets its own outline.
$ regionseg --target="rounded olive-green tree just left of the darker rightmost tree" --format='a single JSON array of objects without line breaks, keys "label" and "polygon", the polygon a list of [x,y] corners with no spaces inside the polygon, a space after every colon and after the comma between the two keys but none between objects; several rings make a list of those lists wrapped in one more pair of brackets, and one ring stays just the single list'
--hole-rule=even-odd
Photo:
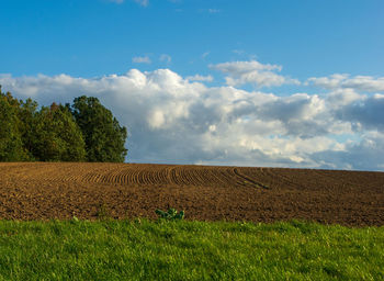
[{"label": "rounded olive-green tree just left of the darker rightmost tree", "polygon": [[31,153],[39,161],[83,161],[86,144],[71,112],[61,104],[43,106],[32,120]]}]

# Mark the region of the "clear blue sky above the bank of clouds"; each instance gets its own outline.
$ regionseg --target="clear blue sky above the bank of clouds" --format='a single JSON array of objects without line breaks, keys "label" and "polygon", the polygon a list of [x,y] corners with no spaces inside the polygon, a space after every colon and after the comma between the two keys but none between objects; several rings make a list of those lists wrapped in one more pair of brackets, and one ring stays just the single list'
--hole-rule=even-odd
[{"label": "clear blue sky above the bank of clouds", "polygon": [[[292,76],[380,75],[382,0],[1,0],[1,69],[13,75],[93,77],[169,67],[181,75],[207,64],[283,65]],[[234,53],[238,52],[238,53]],[[170,65],[159,61],[171,56]],[[203,55],[207,54],[204,58]]]}]

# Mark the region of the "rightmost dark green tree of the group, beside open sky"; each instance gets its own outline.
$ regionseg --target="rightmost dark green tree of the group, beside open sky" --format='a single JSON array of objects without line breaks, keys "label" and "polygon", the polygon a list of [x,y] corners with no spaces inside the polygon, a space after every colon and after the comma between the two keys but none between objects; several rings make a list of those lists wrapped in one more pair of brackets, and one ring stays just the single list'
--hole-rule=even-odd
[{"label": "rightmost dark green tree of the group, beside open sky", "polygon": [[99,99],[79,97],[71,106],[76,123],[86,140],[87,160],[91,162],[123,162],[126,127],[120,126],[112,112]]}]

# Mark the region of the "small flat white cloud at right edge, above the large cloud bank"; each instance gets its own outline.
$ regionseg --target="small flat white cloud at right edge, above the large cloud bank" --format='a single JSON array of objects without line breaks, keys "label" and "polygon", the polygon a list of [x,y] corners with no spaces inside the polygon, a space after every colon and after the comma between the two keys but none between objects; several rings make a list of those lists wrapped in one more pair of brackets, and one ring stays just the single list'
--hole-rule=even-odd
[{"label": "small flat white cloud at right edge, above the large cloud bank", "polygon": [[328,90],[353,89],[360,92],[381,92],[384,91],[384,77],[331,75],[328,77],[312,77],[306,85],[321,87]]}]

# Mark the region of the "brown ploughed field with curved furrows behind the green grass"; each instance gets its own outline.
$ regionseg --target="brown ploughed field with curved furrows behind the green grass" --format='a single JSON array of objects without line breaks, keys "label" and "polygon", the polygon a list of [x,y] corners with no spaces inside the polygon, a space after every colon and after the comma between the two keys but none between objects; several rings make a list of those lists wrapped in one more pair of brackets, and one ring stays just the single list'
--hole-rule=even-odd
[{"label": "brown ploughed field with curved furrows behind the green grass", "polygon": [[0,164],[0,218],[93,220],[185,211],[187,220],[384,225],[384,172],[139,164]]}]

